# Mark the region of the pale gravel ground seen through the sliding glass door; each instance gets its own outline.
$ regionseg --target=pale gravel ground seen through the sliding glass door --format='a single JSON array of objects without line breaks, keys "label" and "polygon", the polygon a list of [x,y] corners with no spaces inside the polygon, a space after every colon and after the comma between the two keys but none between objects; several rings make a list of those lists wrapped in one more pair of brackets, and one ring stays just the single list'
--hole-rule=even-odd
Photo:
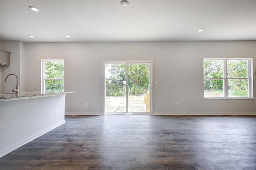
[{"label": "pale gravel ground seen through the sliding glass door", "polygon": [[[144,103],[145,94],[130,95],[128,97],[128,112],[141,113],[146,112]],[[126,113],[126,96],[106,96],[105,112],[125,112]]]}]

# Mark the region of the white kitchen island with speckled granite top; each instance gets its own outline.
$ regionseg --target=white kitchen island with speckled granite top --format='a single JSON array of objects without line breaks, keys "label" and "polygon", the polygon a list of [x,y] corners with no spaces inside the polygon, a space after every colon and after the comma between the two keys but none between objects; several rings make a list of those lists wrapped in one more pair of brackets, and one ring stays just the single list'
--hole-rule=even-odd
[{"label": "white kitchen island with speckled granite top", "polygon": [[67,93],[1,93],[0,157],[64,124]]}]

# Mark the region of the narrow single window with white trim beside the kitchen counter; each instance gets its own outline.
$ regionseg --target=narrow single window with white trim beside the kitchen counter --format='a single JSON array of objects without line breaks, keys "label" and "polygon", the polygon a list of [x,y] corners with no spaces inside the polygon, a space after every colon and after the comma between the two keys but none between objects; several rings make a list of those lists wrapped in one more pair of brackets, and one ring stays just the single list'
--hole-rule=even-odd
[{"label": "narrow single window with white trim beside the kitchen counter", "polygon": [[64,92],[64,60],[42,60],[41,91]]}]

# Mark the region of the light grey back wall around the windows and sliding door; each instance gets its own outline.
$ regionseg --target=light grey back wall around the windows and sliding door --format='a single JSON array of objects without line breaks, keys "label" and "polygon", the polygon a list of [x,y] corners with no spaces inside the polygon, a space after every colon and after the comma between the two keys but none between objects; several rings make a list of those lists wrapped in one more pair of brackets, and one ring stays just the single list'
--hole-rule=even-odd
[{"label": "light grey back wall around the windows and sliding door", "polygon": [[253,58],[256,77],[256,41],[25,43],[24,90],[40,91],[41,59],[64,59],[65,91],[76,91],[66,96],[66,113],[102,114],[102,61],[150,59],[154,114],[256,114],[254,99],[203,99],[203,58],[215,57]]}]

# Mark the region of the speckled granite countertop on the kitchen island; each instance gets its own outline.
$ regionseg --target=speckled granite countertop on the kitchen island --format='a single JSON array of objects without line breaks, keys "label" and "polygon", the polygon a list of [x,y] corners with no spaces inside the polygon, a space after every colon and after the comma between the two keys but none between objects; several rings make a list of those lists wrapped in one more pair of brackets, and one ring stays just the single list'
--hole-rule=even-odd
[{"label": "speckled granite countertop on the kitchen island", "polygon": [[0,101],[6,100],[17,100],[17,99],[26,99],[27,97],[47,97],[53,95],[66,95],[67,93],[76,93],[75,91],[70,92],[45,92],[42,93],[40,91],[34,92],[23,92],[16,95],[15,93],[0,93]]}]

